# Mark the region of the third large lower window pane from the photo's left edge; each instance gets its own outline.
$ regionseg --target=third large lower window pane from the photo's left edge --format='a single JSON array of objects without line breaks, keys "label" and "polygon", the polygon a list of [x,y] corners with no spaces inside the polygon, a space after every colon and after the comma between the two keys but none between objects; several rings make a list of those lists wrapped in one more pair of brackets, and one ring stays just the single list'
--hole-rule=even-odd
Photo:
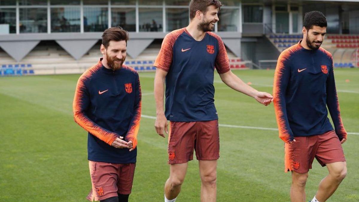
[{"label": "third large lower window pane from the photo's left edge", "polygon": [[51,32],[80,32],[80,8],[51,8]]}]

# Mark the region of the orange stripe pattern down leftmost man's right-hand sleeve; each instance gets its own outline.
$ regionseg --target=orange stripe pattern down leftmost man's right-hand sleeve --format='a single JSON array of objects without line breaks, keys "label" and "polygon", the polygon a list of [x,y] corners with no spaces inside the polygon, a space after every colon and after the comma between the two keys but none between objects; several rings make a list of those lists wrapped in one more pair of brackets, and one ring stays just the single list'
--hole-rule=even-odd
[{"label": "orange stripe pattern down leftmost man's right-hand sleeve", "polygon": [[[129,130],[126,134],[126,139],[128,141],[132,141],[133,148],[135,149],[137,146],[137,134],[140,129],[140,120],[141,120],[141,110],[142,110],[142,92],[141,92],[141,85],[140,85],[140,78],[138,77],[138,73],[136,70],[132,69],[129,66],[125,66],[125,68],[131,70],[131,72],[137,74],[137,86],[139,91],[138,103],[135,105],[135,112],[134,117],[132,118]],[[136,86],[136,87],[137,87]]]}]

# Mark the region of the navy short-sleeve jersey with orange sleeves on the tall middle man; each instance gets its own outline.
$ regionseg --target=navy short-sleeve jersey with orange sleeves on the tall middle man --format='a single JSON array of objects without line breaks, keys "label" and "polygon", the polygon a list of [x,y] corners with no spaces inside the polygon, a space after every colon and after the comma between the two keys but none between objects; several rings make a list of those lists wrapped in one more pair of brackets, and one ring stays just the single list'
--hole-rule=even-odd
[{"label": "navy short-sleeve jersey with orange sleeves on the tall middle man", "polygon": [[170,121],[208,121],[218,119],[214,106],[214,69],[229,71],[223,41],[206,32],[196,41],[186,28],[168,33],[154,63],[168,72],[165,115]]}]

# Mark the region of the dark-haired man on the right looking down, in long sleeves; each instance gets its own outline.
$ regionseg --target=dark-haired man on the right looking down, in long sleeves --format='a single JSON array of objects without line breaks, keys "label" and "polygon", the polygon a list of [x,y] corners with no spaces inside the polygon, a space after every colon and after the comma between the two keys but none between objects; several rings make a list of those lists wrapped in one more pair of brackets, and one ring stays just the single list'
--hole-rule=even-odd
[{"label": "dark-haired man on the right looking down, in long sleeves", "polygon": [[340,116],[333,58],[320,47],[326,35],[326,18],[312,11],[304,16],[303,25],[303,39],[278,58],[274,107],[279,136],[285,142],[285,172],[292,171],[292,202],[306,201],[304,189],[314,157],[327,166],[329,174],[320,182],[312,202],[324,202],[346,176],[341,143],[347,133]]}]

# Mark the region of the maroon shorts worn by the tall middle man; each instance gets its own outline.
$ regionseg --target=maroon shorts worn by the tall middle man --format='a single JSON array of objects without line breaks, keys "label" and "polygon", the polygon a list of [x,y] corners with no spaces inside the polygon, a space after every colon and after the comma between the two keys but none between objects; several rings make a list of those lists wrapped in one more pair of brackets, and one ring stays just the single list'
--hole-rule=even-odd
[{"label": "maroon shorts worn by the tall middle man", "polygon": [[168,164],[219,158],[218,120],[169,123]]}]

